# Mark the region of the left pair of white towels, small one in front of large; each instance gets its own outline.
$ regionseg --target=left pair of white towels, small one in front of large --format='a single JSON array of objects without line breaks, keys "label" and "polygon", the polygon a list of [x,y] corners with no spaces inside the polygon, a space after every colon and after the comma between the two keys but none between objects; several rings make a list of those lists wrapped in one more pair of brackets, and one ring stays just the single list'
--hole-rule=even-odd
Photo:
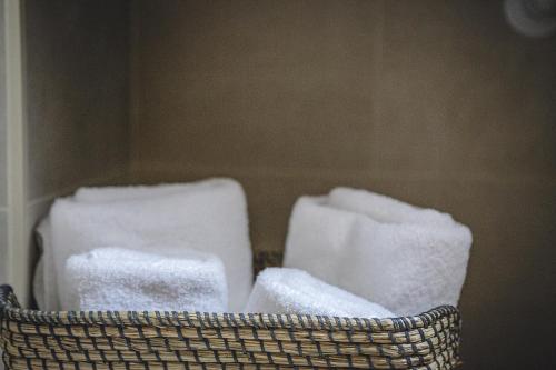
[{"label": "left pair of white towels, small one in front of large", "polygon": [[[98,309],[118,293],[113,287],[121,287],[119,292],[136,289],[150,296],[136,304],[136,296],[129,297],[121,306],[126,309],[149,309],[142,303],[158,299],[152,308],[238,311],[251,290],[247,202],[241,186],[230,179],[83,188],[57,200],[38,231],[42,257],[34,291],[44,310]],[[219,278],[222,273],[226,279]],[[224,291],[228,297],[222,301]],[[199,297],[199,306],[180,306],[177,294]]]}]

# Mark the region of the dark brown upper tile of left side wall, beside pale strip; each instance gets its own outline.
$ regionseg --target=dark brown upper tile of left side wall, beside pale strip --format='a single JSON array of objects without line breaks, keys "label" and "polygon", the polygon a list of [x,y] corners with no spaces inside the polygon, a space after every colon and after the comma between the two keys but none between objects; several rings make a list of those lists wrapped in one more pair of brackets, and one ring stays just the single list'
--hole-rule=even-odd
[{"label": "dark brown upper tile of left side wall, beside pale strip", "polygon": [[26,3],[31,200],[125,171],[128,4]]}]

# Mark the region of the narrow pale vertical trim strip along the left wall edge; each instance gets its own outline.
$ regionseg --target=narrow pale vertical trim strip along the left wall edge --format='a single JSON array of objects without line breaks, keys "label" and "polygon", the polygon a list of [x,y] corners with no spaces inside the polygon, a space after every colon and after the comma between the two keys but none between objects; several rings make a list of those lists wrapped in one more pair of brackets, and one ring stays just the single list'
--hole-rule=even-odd
[{"label": "narrow pale vertical trim strip along the left wall edge", "polygon": [[23,118],[21,1],[4,0],[6,113],[8,139],[8,281],[23,306],[29,299],[26,229],[26,132]]}]

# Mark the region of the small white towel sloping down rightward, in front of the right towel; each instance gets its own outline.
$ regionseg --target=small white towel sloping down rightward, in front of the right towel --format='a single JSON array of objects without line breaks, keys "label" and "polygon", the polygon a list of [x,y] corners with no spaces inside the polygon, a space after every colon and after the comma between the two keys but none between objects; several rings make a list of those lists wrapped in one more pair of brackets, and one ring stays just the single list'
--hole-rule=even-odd
[{"label": "small white towel sloping down rightward, in front of the right towel", "polygon": [[267,268],[257,277],[245,312],[396,317],[379,304],[311,277],[298,269]]}]

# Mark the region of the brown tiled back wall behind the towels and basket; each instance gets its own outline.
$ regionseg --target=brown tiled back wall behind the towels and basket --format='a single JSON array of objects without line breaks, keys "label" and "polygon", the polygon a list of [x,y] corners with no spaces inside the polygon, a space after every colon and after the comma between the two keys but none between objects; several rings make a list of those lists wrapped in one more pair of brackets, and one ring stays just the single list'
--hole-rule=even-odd
[{"label": "brown tiled back wall behind the towels and basket", "polygon": [[466,369],[554,357],[555,38],[499,1],[133,1],[131,48],[136,181],[238,178],[267,250],[336,184],[451,212]]}]

